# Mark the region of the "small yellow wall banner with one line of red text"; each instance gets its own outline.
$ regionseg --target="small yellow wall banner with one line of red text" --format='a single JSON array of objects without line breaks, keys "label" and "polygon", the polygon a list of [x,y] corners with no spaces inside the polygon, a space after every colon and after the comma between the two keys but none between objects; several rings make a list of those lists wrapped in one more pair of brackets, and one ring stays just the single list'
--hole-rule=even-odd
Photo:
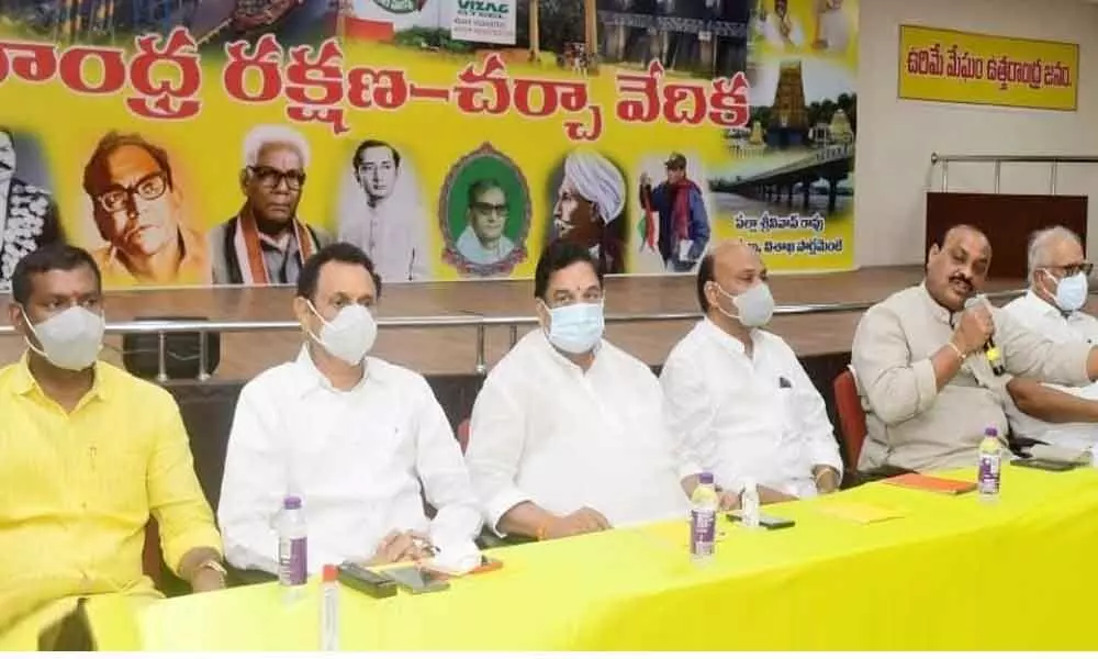
[{"label": "small yellow wall banner with one line of red text", "polygon": [[899,97],[1075,110],[1078,44],[900,25]]}]

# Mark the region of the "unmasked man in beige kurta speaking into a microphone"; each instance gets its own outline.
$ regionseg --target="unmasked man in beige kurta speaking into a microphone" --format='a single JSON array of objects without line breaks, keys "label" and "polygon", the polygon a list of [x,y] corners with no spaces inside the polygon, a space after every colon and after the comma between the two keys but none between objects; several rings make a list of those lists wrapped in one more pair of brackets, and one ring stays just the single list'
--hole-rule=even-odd
[{"label": "unmasked man in beige kurta speaking into a microphone", "polygon": [[[1010,376],[1068,386],[1098,376],[1098,353],[1085,342],[1055,344],[975,298],[990,261],[983,233],[954,226],[930,248],[923,281],[859,322],[852,362],[869,428],[860,470],[974,466],[984,428],[1007,435]],[[1005,376],[993,371],[989,342]]]}]

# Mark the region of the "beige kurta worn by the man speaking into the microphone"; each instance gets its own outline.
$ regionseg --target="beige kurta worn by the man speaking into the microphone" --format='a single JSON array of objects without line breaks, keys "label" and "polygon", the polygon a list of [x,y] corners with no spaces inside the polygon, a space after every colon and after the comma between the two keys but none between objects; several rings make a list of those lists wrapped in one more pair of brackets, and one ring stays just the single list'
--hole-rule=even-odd
[{"label": "beige kurta worn by the man speaking into the microphone", "polygon": [[1053,344],[998,309],[993,317],[1008,376],[997,378],[982,354],[971,355],[938,391],[930,357],[953,336],[950,312],[922,283],[865,312],[851,359],[869,429],[860,469],[974,466],[984,428],[995,426],[1006,436],[1010,376],[1065,386],[1089,381],[1086,343]]}]

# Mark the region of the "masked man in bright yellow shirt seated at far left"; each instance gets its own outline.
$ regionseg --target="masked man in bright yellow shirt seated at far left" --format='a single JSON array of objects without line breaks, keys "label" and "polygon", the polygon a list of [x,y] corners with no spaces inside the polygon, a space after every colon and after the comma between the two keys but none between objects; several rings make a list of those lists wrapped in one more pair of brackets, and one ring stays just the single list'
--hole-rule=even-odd
[{"label": "masked man in bright yellow shirt seated at far left", "polygon": [[94,259],[43,247],[19,261],[11,284],[9,320],[27,349],[0,369],[0,636],[36,638],[81,596],[158,597],[142,573],[149,516],[171,570],[195,591],[222,588],[221,538],[179,407],[98,361]]}]

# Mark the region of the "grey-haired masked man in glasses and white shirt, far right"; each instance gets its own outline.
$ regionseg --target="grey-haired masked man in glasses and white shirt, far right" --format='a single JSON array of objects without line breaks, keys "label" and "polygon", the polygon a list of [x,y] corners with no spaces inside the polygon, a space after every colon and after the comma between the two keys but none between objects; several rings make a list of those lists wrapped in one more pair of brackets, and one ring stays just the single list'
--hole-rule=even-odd
[{"label": "grey-haired masked man in glasses and white shirt, far right", "polygon": [[[1030,290],[1002,308],[1031,332],[1054,343],[1098,343],[1098,319],[1083,311],[1093,269],[1083,242],[1068,228],[1033,234],[1029,244]],[[1043,444],[1086,449],[1098,442],[1098,384],[1061,387],[1030,378],[1007,384],[1012,434]]]}]

